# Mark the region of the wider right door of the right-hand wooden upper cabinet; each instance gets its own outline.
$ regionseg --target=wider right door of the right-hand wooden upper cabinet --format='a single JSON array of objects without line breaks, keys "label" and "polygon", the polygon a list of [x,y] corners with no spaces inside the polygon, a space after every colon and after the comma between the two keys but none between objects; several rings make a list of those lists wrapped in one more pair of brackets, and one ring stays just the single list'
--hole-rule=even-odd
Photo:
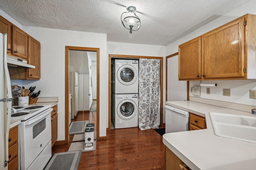
[{"label": "wider right door of the right-hand wooden upper cabinet", "polygon": [[244,77],[244,18],[202,36],[203,78]]}]

